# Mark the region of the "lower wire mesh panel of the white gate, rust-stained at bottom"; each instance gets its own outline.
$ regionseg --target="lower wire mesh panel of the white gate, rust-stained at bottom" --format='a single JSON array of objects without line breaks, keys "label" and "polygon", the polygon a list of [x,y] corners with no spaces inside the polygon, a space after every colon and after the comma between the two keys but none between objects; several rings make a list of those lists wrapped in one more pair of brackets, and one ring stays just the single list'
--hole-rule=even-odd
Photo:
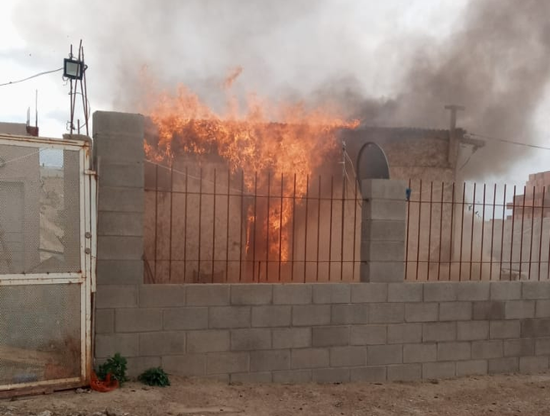
[{"label": "lower wire mesh panel of the white gate, rust-stained at bottom", "polygon": [[81,288],[0,286],[0,385],[80,376]]}]

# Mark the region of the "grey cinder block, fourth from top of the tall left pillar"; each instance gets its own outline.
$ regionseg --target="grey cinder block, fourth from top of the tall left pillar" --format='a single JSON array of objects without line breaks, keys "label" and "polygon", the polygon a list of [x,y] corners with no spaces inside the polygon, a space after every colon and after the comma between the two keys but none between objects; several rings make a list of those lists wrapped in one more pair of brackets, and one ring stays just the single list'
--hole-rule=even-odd
[{"label": "grey cinder block, fourth from top of the tall left pillar", "polygon": [[104,212],[116,211],[121,213],[144,212],[143,188],[126,188],[125,186],[99,186],[97,209],[99,215]]}]

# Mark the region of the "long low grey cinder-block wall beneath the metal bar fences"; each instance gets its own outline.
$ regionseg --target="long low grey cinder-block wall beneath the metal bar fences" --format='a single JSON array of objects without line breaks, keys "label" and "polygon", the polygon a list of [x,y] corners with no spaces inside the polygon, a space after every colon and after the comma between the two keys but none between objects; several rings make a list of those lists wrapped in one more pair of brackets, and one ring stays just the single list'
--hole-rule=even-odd
[{"label": "long low grey cinder-block wall beneath the metal bar fences", "polygon": [[141,285],[96,357],[226,381],[422,380],[549,369],[548,282]]}]

